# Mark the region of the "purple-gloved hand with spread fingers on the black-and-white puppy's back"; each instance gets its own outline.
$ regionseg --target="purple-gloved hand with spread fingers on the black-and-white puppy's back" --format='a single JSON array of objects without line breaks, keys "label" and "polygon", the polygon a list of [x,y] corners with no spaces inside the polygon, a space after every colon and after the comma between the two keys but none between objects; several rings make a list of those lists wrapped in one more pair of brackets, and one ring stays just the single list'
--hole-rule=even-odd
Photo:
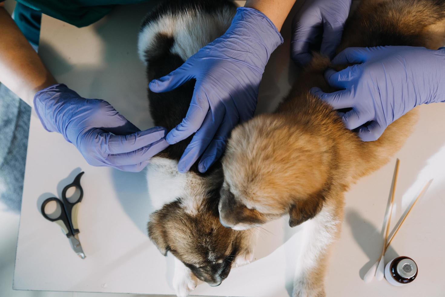
[{"label": "purple-gloved hand with spread fingers on the black-and-white puppy's back", "polygon": [[198,170],[205,172],[223,153],[235,125],[253,116],[264,67],[281,43],[283,38],[267,16],[238,8],[223,36],[150,82],[153,92],[167,92],[196,79],[186,117],[166,137],[174,144],[196,132],[179,160],[179,172],[188,171],[202,154]]}]

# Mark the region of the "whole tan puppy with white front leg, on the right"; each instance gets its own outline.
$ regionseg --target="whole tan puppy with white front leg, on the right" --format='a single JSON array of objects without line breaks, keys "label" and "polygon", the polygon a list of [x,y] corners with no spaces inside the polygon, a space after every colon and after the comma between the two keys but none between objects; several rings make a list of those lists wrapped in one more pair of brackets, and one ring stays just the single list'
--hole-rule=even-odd
[{"label": "whole tan puppy with white front leg, on the right", "polygon": [[[413,45],[437,49],[445,41],[445,0],[364,0],[349,18],[339,51],[349,46]],[[305,224],[306,243],[294,296],[324,296],[324,266],[340,232],[344,192],[388,162],[417,121],[413,110],[375,142],[362,142],[335,110],[309,93],[333,91],[324,80],[332,67],[316,56],[272,114],[235,128],[223,158],[220,220],[236,230],[289,214]],[[344,68],[344,67],[343,67]]]}]

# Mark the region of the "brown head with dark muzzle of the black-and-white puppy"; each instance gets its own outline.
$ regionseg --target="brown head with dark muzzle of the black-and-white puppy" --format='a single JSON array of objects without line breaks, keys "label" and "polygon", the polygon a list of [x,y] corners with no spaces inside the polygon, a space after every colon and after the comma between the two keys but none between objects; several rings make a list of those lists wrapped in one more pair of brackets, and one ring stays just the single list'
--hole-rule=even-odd
[{"label": "brown head with dark muzzle of the black-and-white puppy", "polygon": [[211,286],[228,276],[244,235],[220,224],[218,199],[214,198],[206,199],[195,212],[177,199],[152,213],[148,223],[149,237],[159,251],[163,255],[171,252]]}]

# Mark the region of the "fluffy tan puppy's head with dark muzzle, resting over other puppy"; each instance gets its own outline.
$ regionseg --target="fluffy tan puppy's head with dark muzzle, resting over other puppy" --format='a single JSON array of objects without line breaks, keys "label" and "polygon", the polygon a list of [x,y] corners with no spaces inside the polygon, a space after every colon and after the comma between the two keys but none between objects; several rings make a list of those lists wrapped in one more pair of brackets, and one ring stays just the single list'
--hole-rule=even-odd
[{"label": "fluffy tan puppy's head with dark muzzle, resting over other puppy", "polygon": [[305,129],[264,114],[232,131],[222,161],[224,226],[243,230],[289,214],[294,227],[320,212],[329,150]]}]

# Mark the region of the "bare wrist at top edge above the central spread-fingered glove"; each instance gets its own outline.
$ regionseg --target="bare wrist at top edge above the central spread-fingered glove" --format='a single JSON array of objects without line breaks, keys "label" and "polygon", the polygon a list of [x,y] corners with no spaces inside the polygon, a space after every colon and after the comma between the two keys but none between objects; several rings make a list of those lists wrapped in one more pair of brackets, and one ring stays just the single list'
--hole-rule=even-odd
[{"label": "bare wrist at top edge above the central spread-fingered glove", "polygon": [[247,0],[244,7],[263,12],[279,31],[294,3],[295,0]]}]

